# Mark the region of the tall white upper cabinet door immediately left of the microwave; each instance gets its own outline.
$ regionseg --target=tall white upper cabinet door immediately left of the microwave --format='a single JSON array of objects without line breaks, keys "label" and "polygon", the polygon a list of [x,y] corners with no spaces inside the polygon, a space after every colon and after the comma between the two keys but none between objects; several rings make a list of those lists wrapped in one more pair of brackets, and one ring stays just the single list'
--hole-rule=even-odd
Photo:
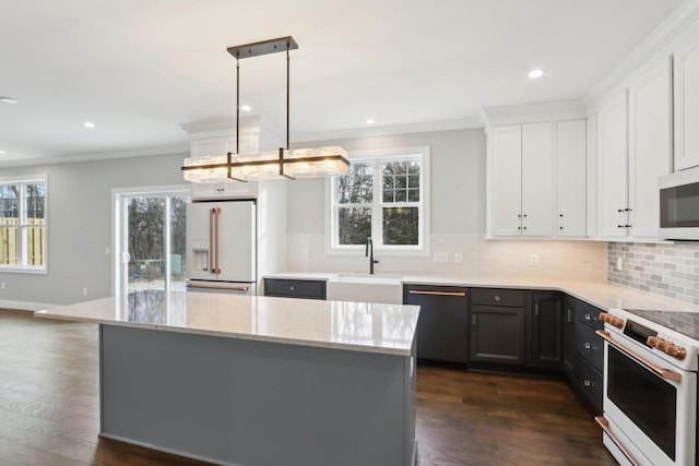
[{"label": "tall white upper cabinet door immediately left of the microwave", "polygon": [[664,58],[629,85],[628,207],[629,234],[635,238],[657,238],[659,234],[657,178],[670,172],[672,152],[671,67],[670,58]]}]

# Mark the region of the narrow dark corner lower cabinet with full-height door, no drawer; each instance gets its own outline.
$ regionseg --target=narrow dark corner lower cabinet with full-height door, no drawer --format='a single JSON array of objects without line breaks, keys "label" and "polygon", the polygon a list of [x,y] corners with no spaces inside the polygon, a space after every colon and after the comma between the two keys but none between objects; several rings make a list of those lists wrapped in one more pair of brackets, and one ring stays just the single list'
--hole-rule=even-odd
[{"label": "narrow dark corner lower cabinet with full-height door, no drawer", "polygon": [[558,369],[564,353],[564,302],[557,291],[532,292],[531,366]]}]

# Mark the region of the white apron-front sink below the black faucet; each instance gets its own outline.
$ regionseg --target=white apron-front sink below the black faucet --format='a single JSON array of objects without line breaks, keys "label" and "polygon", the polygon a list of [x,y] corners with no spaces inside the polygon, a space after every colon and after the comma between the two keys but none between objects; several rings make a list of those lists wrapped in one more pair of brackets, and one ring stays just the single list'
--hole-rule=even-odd
[{"label": "white apron-front sink below the black faucet", "polygon": [[402,278],[402,275],[339,274],[328,280],[325,296],[331,301],[400,304]]}]

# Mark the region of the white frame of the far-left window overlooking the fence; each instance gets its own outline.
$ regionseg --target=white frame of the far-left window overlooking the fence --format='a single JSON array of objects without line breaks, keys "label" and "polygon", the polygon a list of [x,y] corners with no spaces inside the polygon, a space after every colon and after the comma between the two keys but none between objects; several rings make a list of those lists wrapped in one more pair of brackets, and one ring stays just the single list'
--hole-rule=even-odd
[{"label": "white frame of the far-left window overlooking the fence", "polygon": [[[26,239],[24,238],[23,230],[26,229],[29,225],[26,224],[26,186],[33,183],[44,183],[44,265],[26,265]],[[0,264],[0,273],[20,273],[20,274],[39,274],[47,275],[48,274],[48,253],[49,253],[49,222],[48,222],[48,213],[49,213],[49,187],[48,187],[48,176],[43,175],[32,175],[24,177],[7,177],[0,178],[0,184],[19,184],[21,186],[20,190],[20,199],[19,199],[19,219],[17,224],[17,242],[20,248],[20,253],[17,254],[21,260],[20,264]]]}]

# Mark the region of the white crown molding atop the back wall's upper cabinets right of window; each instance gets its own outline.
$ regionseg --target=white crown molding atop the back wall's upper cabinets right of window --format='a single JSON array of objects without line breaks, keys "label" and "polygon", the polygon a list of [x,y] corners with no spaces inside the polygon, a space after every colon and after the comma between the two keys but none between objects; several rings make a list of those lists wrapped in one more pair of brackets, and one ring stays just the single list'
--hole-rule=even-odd
[{"label": "white crown molding atop the back wall's upper cabinets right of window", "polygon": [[580,100],[485,107],[479,113],[485,127],[580,120],[585,117],[587,110]]}]

